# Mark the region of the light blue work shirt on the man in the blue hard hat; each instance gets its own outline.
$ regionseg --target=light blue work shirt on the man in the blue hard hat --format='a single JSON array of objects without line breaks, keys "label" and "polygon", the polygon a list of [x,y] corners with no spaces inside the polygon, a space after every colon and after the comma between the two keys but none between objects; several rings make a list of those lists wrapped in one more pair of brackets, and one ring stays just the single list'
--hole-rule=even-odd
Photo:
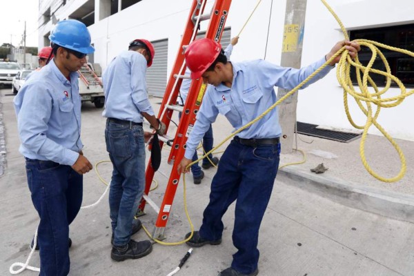
[{"label": "light blue work shirt on the man in the blue hard hat", "polygon": [[83,148],[78,77],[71,72],[68,81],[53,59],[20,88],[13,103],[22,155],[75,164]]}]

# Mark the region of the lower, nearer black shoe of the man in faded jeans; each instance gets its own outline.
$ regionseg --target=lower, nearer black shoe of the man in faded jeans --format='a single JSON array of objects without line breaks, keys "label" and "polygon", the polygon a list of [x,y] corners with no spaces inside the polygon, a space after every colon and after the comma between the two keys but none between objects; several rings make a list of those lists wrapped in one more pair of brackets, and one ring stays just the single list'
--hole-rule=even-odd
[{"label": "lower, nearer black shoe of the man in faded jeans", "polygon": [[126,259],[139,259],[150,254],[152,244],[150,241],[136,242],[131,239],[125,246],[112,246],[110,257],[114,261],[121,262]]}]

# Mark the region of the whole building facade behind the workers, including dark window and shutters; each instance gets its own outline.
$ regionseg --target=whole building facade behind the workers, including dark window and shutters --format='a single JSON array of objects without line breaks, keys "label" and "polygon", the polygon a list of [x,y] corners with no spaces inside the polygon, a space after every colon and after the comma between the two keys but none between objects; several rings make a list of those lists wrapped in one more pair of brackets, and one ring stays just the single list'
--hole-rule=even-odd
[{"label": "whole building facade behind the workers, including dark window and shutters", "polygon": [[[88,57],[89,61],[99,63],[105,70],[121,50],[128,48],[130,41],[148,39],[156,48],[155,62],[148,70],[148,92],[162,97],[191,3],[190,0],[39,0],[39,48],[49,45],[48,35],[57,21],[78,19],[88,26],[96,49]],[[206,12],[213,3],[213,0],[207,1]],[[388,45],[414,51],[414,14],[407,8],[412,6],[411,1],[330,0],[328,3],[344,23],[351,38],[373,37],[387,41]],[[222,43],[228,43],[230,37],[239,33],[256,4],[257,1],[233,0]],[[279,64],[285,11],[286,1],[262,1],[240,35],[231,59],[266,59]],[[206,29],[206,24],[201,23],[201,31]],[[344,39],[344,36],[321,1],[307,1],[302,38],[302,66],[306,66],[324,57],[334,43]],[[363,54],[368,55],[361,52]],[[387,55],[393,73],[404,79],[407,90],[412,90],[413,59]],[[380,88],[382,85],[379,84]],[[400,90],[390,88],[388,93],[394,96],[400,94]],[[354,121],[365,124],[366,117],[355,101],[349,99],[349,104]],[[408,118],[413,117],[413,105],[414,96],[407,97],[395,108],[383,108],[378,121],[391,136],[414,141],[414,126],[408,122]],[[344,112],[344,95],[335,72],[299,92],[297,120],[334,128],[353,128]],[[369,132],[380,134],[375,128]]]}]

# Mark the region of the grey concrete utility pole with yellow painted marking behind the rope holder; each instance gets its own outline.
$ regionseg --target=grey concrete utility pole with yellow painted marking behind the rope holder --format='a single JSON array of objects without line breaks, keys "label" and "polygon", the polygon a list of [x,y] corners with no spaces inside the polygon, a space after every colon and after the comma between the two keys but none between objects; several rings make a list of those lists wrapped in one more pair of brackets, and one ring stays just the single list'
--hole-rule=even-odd
[{"label": "grey concrete utility pole with yellow painted marking behind the rope holder", "polygon": [[[305,16],[306,0],[286,0],[281,59],[281,66],[283,67],[301,67]],[[277,98],[282,98],[288,92],[289,90],[279,88]],[[296,126],[297,93],[295,92],[279,105],[279,122],[282,127],[282,153],[292,152]]]}]

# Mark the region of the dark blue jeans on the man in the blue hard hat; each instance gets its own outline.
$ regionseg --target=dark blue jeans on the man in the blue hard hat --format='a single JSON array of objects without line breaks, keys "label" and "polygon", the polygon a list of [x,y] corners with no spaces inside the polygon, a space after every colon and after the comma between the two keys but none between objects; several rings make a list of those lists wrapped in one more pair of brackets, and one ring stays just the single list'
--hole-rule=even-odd
[{"label": "dark blue jeans on the man in the blue hard hat", "polygon": [[70,166],[26,158],[28,186],[39,213],[40,275],[68,275],[69,224],[82,204],[83,177]]}]

